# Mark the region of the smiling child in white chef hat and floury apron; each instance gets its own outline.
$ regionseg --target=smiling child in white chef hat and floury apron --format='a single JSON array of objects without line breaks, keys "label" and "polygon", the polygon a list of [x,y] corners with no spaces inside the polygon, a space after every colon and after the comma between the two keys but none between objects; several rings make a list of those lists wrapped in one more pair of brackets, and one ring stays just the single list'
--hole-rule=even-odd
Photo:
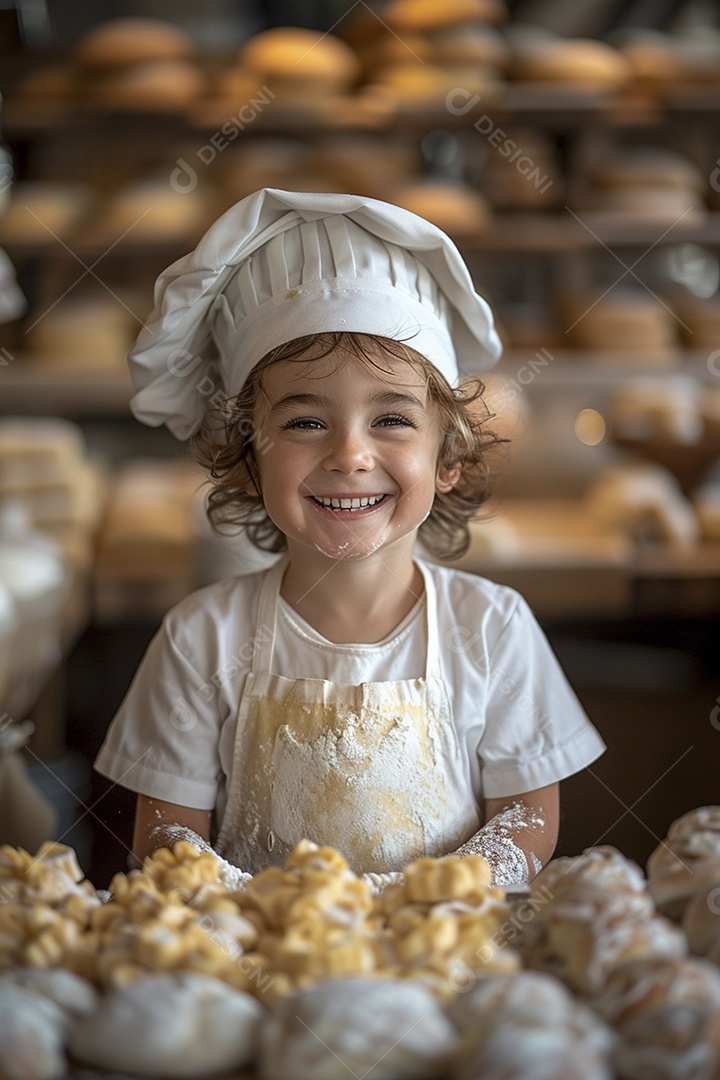
[{"label": "smiling child in white chef hat and floury apron", "polygon": [[356,873],[478,852],[528,881],[558,781],[604,747],[517,593],[418,553],[464,550],[495,442],[481,383],[453,389],[500,354],[457,248],[376,200],[264,189],[155,300],[135,415],[193,435],[213,522],[282,554],[174,608],[110,726],[136,858],[190,836],[256,873],[307,837]]}]

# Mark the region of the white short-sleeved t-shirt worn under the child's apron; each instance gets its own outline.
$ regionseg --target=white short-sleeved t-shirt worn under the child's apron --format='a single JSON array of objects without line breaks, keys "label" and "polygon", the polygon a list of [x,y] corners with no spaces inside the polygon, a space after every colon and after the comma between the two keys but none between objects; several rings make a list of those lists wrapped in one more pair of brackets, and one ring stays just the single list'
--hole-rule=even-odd
[{"label": "white short-sleeved t-shirt worn under the child's apron", "polygon": [[[440,664],[465,757],[467,797],[544,787],[594,761],[604,744],[530,608],[505,585],[423,564],[437,591]],[[112,720],[95,768],[125,787],[222,820],[237,706],[252,667],[260,573],[191,594],[165,617]],[[281,598],[273,671],[359,684],[421,678],[420,600],[384,640],[337,645]]]}]

